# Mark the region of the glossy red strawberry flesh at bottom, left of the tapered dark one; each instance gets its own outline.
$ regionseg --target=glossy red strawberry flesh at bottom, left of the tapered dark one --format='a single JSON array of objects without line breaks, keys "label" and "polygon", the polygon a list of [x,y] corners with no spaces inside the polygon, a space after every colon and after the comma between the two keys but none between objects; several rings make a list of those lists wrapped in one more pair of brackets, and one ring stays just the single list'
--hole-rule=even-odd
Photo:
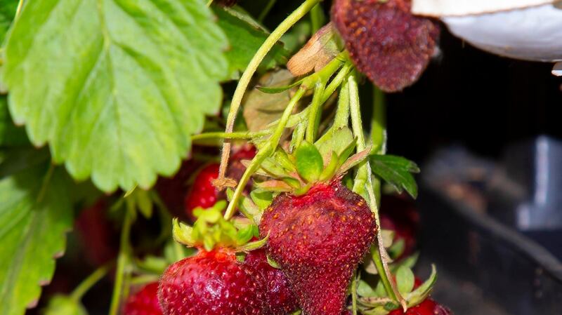
[{"label": "glossy red strawberry flesh at bottom, left of the tapered dark one", "polygon": [[158,288],[164,315],[259,315],[263,288],[259,275],[234,253],[200,251],[172,264]]}]

